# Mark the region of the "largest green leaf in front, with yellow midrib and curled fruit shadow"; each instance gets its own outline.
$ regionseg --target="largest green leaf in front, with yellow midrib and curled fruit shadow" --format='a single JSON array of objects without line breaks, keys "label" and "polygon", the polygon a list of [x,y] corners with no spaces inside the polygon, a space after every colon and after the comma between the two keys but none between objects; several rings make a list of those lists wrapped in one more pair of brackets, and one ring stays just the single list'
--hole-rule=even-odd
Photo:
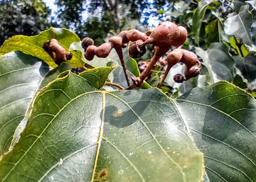
[{"label": "largest green leaf in front, with yellow midrib and curled fruit shadow", "polygon": [[0,181],[201,181],[203,155],[161,91],[95,91],[63,73],[38,93],[0,171]]}]

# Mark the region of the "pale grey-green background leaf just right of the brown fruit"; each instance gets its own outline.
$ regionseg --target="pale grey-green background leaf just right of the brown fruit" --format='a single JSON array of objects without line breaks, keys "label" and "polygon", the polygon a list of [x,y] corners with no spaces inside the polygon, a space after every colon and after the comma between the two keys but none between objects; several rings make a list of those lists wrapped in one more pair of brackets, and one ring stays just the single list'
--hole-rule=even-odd
[{"label": "pale grey-green background leaf just right of the brown fruit", "polygon": [[206,51],[196,47],[196,54],[203,59],[202,64],[208,69],[208,84],[222,79],[233,81],[235,62],[229,55],[228,45],[215,42]]}]

